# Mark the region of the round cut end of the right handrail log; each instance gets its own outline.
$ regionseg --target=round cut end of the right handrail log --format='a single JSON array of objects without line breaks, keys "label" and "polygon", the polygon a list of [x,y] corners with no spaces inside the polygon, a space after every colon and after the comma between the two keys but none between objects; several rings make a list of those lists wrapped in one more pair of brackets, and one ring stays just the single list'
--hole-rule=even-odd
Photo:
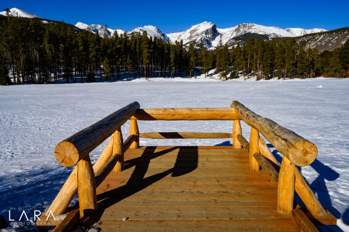
[{"label": "round cut end of the right handrail log", "polygon": [[317,155],[317,147],[309,141],[296,142],[289,152],[290,161],[300,167],[310,165]]}]

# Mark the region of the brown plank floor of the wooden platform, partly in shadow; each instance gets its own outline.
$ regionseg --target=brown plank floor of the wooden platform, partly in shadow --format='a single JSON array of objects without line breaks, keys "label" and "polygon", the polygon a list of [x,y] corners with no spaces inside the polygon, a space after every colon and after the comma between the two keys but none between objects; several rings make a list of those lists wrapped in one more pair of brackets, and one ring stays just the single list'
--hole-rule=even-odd
[{"label": "brown plank floor of the wooden platform, partly in shadow", "polygon": [[298,231],[276,211],[277,186],[229,146],[128,149],[97,200],[102,231]]}]

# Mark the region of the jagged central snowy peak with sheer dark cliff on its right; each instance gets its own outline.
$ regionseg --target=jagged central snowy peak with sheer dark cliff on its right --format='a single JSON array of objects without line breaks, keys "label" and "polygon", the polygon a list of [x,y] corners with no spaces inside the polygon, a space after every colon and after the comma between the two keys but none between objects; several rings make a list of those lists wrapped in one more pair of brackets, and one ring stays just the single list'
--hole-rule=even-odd
[{"label": "jagged central snowy peak with sheer dark cliff on its right", "polygon": [[203,22],[190,27],[190,29],[166,34],[171,42],[183,40],[183,44],[187,44],[191,41],[196,41],[197,43],[202,39],[206,47],[212,47],[212,41],[219,37],[219,32],[217,31],[216,24],[211,22]]}]

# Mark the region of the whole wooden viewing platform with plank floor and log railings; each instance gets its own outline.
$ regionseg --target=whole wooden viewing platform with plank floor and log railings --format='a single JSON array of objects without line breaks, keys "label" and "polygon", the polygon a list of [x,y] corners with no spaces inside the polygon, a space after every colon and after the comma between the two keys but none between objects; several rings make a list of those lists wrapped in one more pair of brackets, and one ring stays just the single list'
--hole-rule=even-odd
[{"label": "whole wooden viewing platform with plank floor and log railings", "polygon": [[[120,128],[127,120],[124,141]],[[137,120],[234,123],[232,133],[139,133]],[[249,142],[240,120],[251,126]],[[260,134],[283,154],[281,165]],[[89,153],[111,135],[92,166]],[[232,138],[232,146],[140,147],[140,137]],[[313,143],[237,101],[231,108],[165,109],[134,102],[57,145],[57,161],[75,168],[41,219],[51,211],[67,214],[49,218],[55,232],[94,223],[102,231],[318,231],[316,224],[333,225],[336,218],[296,168],[317,153]],[[295,202],[295,191],[303,202]],[[68,207],[76,193],[79,202]]]}]

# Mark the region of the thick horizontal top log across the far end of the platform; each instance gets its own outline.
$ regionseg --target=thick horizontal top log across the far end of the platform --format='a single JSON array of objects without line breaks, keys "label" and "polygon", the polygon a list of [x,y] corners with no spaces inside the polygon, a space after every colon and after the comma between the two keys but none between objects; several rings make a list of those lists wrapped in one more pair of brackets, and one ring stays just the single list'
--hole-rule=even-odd
[{"label": "thick horizontal top log across the far end of the platform", "polygon": [[231,108],[160,108],[139,109],[131,120],[236,120],[239,115]]}]

